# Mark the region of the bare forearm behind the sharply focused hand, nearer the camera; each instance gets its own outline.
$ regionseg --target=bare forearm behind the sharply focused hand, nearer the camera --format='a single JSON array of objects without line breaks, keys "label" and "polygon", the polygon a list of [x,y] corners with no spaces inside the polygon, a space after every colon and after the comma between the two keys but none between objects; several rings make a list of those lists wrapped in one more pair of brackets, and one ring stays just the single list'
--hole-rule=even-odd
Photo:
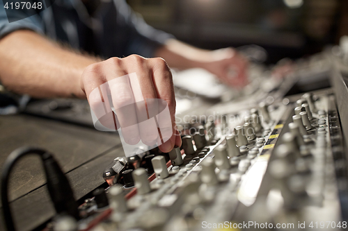
[{"label": "bare forearm behind the sharply focused hand, nearer the camera", "polygon": [[80,78],[96,58],[62,49],[32,31],[16,31],[0,40],[0,79],[9,90],[37,98],[86,98]]}]

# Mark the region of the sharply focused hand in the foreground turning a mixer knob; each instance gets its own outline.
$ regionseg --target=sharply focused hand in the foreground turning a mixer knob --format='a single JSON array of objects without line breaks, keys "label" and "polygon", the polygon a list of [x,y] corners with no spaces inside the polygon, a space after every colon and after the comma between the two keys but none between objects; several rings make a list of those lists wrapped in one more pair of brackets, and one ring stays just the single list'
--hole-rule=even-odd
[{"label": "sharply focused hand in the foreground turning a mixer knob", "polygon": [[[132,75],[132,74],[136,75]],[[128,76],[127,76],[128,75]],[[129,77],[130,76],[130,77]],[[134,76],[137,76],[134,78]],[[106,86],[106,87],[105,87]],[[107,128],[119,127],[125,142],[130,145],[138,144],[141,140],[144,144],[153,145],[161,140],[156,124],[150,124],[141,117],[149,117],[150,99],[162,99],[168,104],[171,121],[169,126],[173,135],[161,144],[161,151],[167,153],[174,145],[180,146],[179,132],[175,129],[175,96],[171,71],[162,58],[143,58],[139,55],[129,55],[126,58],[109,58],[103,62],[89,65],[81,76],[81,89],[86,93],[88,102],[93,112],[97,114],[101,104],[103,112],[109,112],[104,117],[97,116],[103,126]],[[111,94],[111,101],[116,117],[109,107],[107,93]],[[145,103],[142,104],[142,102]],[[122,110],[118,110],[122,108]],[[150,115],[151,117],[151,115]],[[143,123],[139,123],[145,121]],[[167,121],[168,122],[168,121]],[[157,121],[163,123],[163,121]],[[164,121],[166,123],[166,121]],[[168,123],[167,123],[168,124]],[[159,124],[161,128],[161,124]],[[161,129],[160,129],[161,130]],[[163,137],[162,139],[165,141]],[[172,131],[170,132],[172,134]]]}]

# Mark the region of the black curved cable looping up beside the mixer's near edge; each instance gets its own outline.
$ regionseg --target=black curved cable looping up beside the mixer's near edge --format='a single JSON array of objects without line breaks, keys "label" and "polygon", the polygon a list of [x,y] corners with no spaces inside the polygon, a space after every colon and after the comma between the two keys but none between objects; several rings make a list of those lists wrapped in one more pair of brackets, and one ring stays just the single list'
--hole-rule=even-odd
[{"label": "black curved cable looping up beside the mixer's near edge", "polygon": [[15,231],[13,216],[10,212],[8,203],[8,180],[16,162],[28,154],[37,154],[41,157],[47,179],[47,189],[49,196],[54,203],[54,208],[58,214],[65,213],[79,219],[79,210],[74,200],[74,195],[68,179],[59,167],[54,157],[47,151],[40,148],[22,147],[10,153],[1,173],[1,202],[3,206],[3,218],[8,231]]}]

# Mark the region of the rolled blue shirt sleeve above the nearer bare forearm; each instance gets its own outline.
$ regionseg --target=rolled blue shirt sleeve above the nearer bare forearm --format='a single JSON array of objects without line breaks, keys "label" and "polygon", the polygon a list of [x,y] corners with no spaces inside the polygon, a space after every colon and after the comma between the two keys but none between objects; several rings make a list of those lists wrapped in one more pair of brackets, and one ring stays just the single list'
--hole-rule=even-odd
[{"label": "rolled blue shirt sleeve above the nearer bare forearm", "polygon": [[[8,14],[9,15],[6,15],[3,1],[0,1],[0,39],[13,31],[21,29],[44,34],[42,18],[39,15],[35,14],[30,17],[26,17],[26,12],[22,10],[9,10]],[[15,22],[8,22],[8,17],[19,20]]]}]

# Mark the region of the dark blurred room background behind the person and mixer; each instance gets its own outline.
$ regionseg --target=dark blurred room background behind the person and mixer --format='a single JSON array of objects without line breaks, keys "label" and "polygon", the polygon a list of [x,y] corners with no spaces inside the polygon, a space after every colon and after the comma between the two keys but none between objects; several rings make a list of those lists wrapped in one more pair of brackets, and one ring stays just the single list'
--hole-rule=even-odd
[{"label": "dark blurred room background behind the person and mixer", "polygon": [[127,0],[145,22],[203,49],[257,44],[267,64],[348,35],[347,0]]}]

